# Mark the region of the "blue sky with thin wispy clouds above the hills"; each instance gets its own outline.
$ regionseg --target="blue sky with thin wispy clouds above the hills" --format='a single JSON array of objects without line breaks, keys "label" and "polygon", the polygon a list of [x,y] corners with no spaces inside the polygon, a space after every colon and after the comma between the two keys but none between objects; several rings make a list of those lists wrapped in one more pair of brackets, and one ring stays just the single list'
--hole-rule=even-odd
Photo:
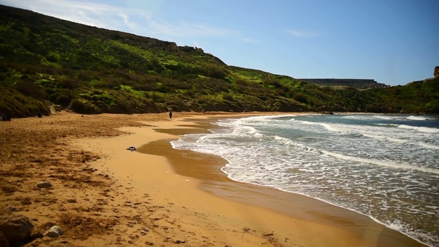
[{"label": "blue sky with thin wispy clouds above the hills", "polygon": [[390,85],[439,66],[438,0],[0,0],[60,19],[200,47],[294,78]]}]

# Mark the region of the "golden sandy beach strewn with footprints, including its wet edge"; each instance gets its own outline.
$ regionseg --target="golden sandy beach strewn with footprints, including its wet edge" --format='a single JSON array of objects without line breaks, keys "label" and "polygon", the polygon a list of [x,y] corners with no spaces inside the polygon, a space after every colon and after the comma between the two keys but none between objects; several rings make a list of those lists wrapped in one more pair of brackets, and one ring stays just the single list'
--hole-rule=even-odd
[{"label": "golden sandy beach strewn with footprints, including its wet edge", "polygon": [[1,214],[26,215],[42,233],[64,230],[25,246],[423,246],[359,213],[234,182],[219,170],[222,158],[169,143],[217,118],[265,114],[62,112],[0,122]]}]

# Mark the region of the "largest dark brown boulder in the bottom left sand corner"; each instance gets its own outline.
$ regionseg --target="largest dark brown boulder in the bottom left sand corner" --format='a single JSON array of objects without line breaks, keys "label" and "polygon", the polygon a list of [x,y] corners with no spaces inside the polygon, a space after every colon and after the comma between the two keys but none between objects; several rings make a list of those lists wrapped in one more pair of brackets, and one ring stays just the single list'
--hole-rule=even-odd
[{"label": "largest dark brown boulder in the bottom left sand corner", "polygon": [[25,215],[2,215],[0,216],[0,231],[9,242],[22,241],[34,233],[34,224]]}]

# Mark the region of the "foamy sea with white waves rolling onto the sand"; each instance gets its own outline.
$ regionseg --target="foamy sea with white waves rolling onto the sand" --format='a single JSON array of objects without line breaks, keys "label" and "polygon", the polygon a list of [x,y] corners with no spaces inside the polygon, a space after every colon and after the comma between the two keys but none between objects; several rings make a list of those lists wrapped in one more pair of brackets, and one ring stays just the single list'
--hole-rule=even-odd
[{"label": "foamy sea with white waves rolling onto the sand", "polygon": [[232,180],[299,193],[439,246],[439,117],[268,115],[219,119],[171,145],[222,156]]}]

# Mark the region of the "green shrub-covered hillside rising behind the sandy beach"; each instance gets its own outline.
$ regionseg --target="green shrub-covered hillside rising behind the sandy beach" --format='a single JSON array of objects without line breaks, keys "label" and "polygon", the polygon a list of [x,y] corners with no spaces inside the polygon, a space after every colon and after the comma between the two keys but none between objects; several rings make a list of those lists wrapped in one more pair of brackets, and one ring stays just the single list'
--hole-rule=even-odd
[{"label": "green shrub-covered hillside rising behind the sandy beach", "polygon": [[358,91],[233,67],[200,48],[0,5],[0,112],[439,113],[438,79]]}]

